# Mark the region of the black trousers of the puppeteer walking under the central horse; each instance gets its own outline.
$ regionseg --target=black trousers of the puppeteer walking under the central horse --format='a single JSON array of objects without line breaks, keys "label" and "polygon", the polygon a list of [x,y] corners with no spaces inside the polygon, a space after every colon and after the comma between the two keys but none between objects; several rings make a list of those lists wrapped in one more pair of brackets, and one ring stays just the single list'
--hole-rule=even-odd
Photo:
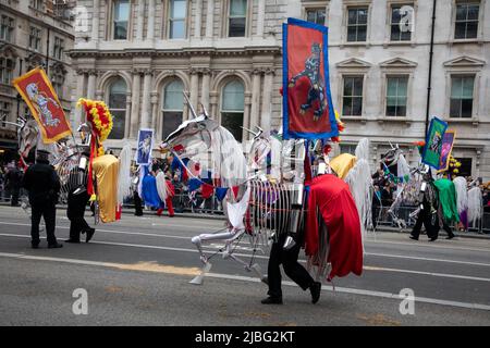
[{"label": "black trousers of the puppeteer walking under the central horse", "polygon": [[311,284],[315,283],[314,278],[305,270],[303,265],[297,262],[297,257],[301,249],[301,243],[297,243],[293,248],[284,250],[285,236],[279,238],[279,243],[272,244],[270,250],[270,258],[267,271],[267,278],[269,283],[269,291],[267,293],[271,297],[282,297],[281,290],[281,270],[282,264],[285,274],[303,290],[306,290]]}]

